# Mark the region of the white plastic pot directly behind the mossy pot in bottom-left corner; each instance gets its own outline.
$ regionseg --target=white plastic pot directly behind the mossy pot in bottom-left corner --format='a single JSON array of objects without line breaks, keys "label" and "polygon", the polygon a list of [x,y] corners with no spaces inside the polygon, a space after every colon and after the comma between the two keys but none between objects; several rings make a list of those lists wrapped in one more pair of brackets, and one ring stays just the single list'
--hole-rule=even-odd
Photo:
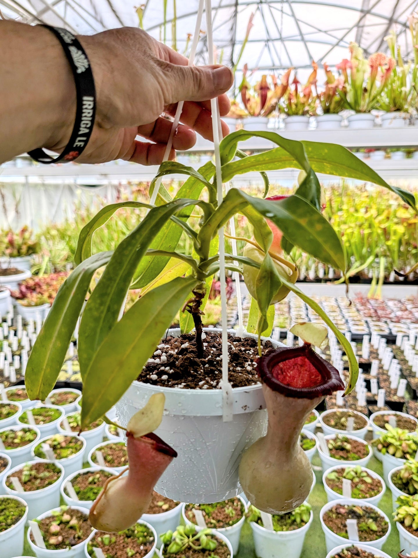
[{"label": "white plastic pot directly behind the mossy pot in bottom-left corner", "polygon": [[[50,461],[43,459],[44,463],[50,463]],[[37,461],[29,461],[28,463],[37,463]],[[64,469],[60,463],[54,463],[59,469],[61,469],[60,478],[56,480],[54,484],[46,488],[41,488],[39,490],[32,490],[31,492],[17,492],[6,486],[6,478],[12,475],[14,472],[22,469],[23,464],[13,467],[9,470],[6,476],[2,480],[2,489],[6,491],[10,496],[18,496],[25,500],[28,505],[28,519],[33,519],[41,515],[41,513],[46,512],[48,509],[56,508],[60,505],[60,488],[62,480],[64,479]]]}]

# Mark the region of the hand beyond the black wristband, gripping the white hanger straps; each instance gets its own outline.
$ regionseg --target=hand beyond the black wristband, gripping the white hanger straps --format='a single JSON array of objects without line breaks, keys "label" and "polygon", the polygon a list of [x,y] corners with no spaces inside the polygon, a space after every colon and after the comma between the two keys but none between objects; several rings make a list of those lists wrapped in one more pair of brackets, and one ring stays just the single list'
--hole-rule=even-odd
[{"label": "hand beyond the black wristband, gripping the white hanger straps", "polygon": [[[213,141],[211,98],[218,97],[221,116],[230,109],[225,92],[233,81],[225,66],[187,66],[186,57],[161,44],[144,31],[122,27],[93,36],[78,37],[89,56],[96,85],[96,118],[90,141],[77,162],[100,163],[115,159],[159,165],[174,116],[184,100],[181,122],[174,134],[174,150],[187,150],[196,142],[195,131]],[[70,71],[70,70],[69,70]],[[75,115],[45,147],[61,151],[69,141]],[[222,134],[229,128],[223,122]],[[135,140],[137,135],[154,143]]]}]

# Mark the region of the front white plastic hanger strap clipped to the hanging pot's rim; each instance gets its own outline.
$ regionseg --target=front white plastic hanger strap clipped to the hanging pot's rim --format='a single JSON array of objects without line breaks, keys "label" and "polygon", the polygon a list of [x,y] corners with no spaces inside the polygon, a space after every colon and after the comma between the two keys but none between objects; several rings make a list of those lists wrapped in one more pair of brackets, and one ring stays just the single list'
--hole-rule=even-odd
[{"label": "front white plastic hanger strap clipped to the hanging pot's rim", "polygon": [[[206,11],[206,36],[207,51],[209,64],[213,65],[213,35],[212,35],[212,5],[211,0],[205,0]],[[221,155],[219,151],[220,138],[220,116],[218,99],[211,99],[212,110],[212,130],[213,130],[213,148],[215,151],[215,167],[216,167],[216,187],[218,206],[222,203],[222,171],[221,171]],[[221,132],[222,133],[222,132]],[[220,386],[222,389],[222,416],[223,422],[232,421],[234,400],[232,398],[232,386],[228,379],[228,324],[226,314],[226,283],[225,283],[225,237],[223,236],[223,227],[218,230],[219,234],[219,283],[221,287],[221,309],[222,309],[222,379]]]}]

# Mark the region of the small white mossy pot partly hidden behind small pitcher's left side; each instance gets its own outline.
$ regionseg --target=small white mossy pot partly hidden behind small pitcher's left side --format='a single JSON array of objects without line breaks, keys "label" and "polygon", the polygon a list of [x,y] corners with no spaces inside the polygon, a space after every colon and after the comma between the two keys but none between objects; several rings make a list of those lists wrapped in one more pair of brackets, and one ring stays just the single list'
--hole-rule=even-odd
[{"label": "small white mossy pot partly hidden behind small pitcher's left side", "polygon": [[[116,472],[112,469],[100,467],[81,469],[65,478],[65,482],[61,484],[61,496],[67,506],[82,506],[90,509],[106,482],[115,475]],[[78,499],[71,497],[67,483],[72,484]]]}]

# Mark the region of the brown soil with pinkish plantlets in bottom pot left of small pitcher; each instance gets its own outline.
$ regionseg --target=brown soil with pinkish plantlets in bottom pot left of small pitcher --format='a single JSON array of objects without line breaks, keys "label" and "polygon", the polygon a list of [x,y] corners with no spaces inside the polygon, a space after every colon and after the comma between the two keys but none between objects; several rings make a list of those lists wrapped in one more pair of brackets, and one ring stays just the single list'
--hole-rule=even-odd
[{"label": "brown soil with pinkish plantlets in bottom pot left of small pitcher", "polygon": [[[39,527],[42,533],[44,533],[43,540],[48,550],[62,550],[71,548],[72,546],[78,545],[80,542],[85,541],[90,535],[91,527],[89,522],[89,516],[85,513],[79,512],[77,509],[68,508],[64,514],[68,514],[71,519],[76,519],[78,522],[78,533],[74,527],[70,527],[69,522],[60,522],[60,530],[57,533],[51,533],[50,527],[57,522],[56,516],[48,516],[41,519],[39,522]],[[49,541],[51,537],[62,537],[62,541],[57,544],[52,544]],[[31,541],[35,543],[33,538],[33,533],[31,532]]]}]

